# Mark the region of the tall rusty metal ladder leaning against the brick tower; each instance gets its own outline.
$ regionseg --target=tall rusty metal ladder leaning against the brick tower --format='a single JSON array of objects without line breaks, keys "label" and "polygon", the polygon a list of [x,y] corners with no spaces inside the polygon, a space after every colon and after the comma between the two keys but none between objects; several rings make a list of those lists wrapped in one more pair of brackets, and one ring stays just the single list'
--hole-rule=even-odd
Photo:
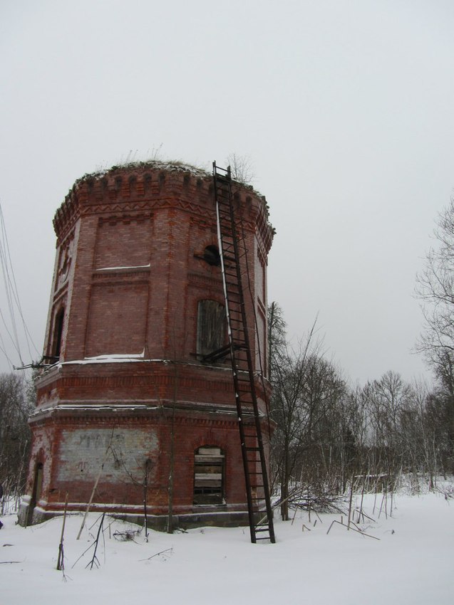
[{"label": "tall rusty metal ladder leaning against the brick tower", "polygon": [[247,273],[247,251],[242,229],[238,228],[240,225],[235,218],[230,167],[222,169],[213,162],[213,179],[229,344],[225,349],[214,352],[212,359],[229,354],[232,363],[251,542],[255,544],[258,540],[269,540],[274,543],[276,540],[262,439],[261,423],[264,416],[257,404],[242,284],[242,276]]}]

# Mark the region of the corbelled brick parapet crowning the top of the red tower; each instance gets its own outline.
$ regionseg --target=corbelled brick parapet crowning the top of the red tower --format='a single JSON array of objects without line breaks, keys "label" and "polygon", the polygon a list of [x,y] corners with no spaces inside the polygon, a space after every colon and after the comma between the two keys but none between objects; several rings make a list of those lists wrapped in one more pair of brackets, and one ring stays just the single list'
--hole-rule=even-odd
[{"label": "corbelled brick parapet crowning the top of the red tower", "polygon": [[[274,230],[268,220],[264,196],[251,186],[233,181],[237,216],[244,228],[257,231],[266,255]],[[140,214],[166,207],[178,207],[205,216],[214,210],[212,176],[185,164],[140,162],[112,167],[105,172],[78,179],[56,211],[53,227],[62,241],[81,215]]]}]

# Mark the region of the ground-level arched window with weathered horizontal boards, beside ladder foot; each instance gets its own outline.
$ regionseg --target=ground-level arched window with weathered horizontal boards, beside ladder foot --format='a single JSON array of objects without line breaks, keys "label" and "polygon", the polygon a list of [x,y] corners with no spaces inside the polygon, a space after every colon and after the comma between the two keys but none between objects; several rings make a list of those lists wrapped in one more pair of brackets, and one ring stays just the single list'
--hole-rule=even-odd
[{"label": "ground-level arched window with weathered horizontal boards, beside ladder foot", "polygon": [[225,456],[220,448],[202,446],[194,455],[194,504],[224,504]]}]

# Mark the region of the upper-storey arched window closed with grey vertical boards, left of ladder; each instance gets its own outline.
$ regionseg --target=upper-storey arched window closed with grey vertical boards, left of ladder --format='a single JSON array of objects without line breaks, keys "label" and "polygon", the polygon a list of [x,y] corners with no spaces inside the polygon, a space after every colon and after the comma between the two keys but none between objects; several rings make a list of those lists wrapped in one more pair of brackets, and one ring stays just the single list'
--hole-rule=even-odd
[{"label": "upper-storey arched window closed with grey vertical boards, left of ladder", "polygon": [[200,300],[197,308],[197,355],[209,355],[225,346],[225,307],[217,300]]}]

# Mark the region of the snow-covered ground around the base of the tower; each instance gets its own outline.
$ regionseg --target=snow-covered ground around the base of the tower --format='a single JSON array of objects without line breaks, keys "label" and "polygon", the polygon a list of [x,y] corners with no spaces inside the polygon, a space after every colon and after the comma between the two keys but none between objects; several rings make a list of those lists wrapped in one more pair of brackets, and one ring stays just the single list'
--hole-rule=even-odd
[{"label": "snow-covered ground around the base of the tower", "polygon": [[148,542],[142,532],[134,541],[120,541],[115,532],[137,526],[105,517],[99,567],[93,569],[86,565],[100,516],[90,514],[76,540],[82,521],[76,515],[66,520],[64,574],[56,570],[62,517],[24,529],[15,515],[6,515],[0,603],[452,605],[454,500],[400,495],[392,516],[388,500],[387,515],[383,506],[378,517],[380,504],[381,496],[373,513],[373,496],[366,496],[363,510],[373,520],[359,524],[379,540],[338,523],[327,534],[341,515],[319,520],[312,513],[309,522],[304,512],[293,524],[276,520],[276,544],[251,544],[247,528],[213,527],[150,532]]}]

